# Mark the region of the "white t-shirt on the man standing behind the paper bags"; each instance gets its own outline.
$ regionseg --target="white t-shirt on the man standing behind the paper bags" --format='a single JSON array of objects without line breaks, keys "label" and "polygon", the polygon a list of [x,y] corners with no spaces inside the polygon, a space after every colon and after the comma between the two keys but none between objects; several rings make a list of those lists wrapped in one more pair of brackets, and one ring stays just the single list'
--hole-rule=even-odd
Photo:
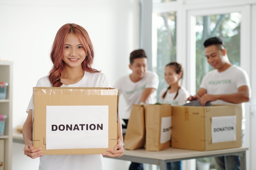
[{"label": "white t-shirt on the man standing behind the paper bags", "polygon": [[[132,104],[139,104],[139,99],[145,88],[157,89],[158,84],[158,75],[151,71],[146,71],[144,77],[138,82],[132,82],[130,75],[119,78],[113,87],[119,89],[120,95],[122,94],[126,101],[126,106],[124,109],[124,114],[122,114],[122,118],[129,119]],[[157,91],[152,93],[145,103],[155,104],[157,102],[156,96]]]}]

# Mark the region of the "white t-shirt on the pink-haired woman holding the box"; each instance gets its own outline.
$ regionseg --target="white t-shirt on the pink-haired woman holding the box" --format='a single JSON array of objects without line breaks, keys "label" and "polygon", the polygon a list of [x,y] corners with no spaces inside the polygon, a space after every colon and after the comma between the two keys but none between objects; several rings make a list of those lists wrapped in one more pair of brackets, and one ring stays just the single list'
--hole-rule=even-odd
[{"label": "white t-shirt on the pink-haired woman holding the box", "polygon": [[[38,80],[37,87],[52,87],[48,76]],[[85,72],[76,84],[61,87],[109,87],[108,79],[103,73]],[[33,109],[33,99],[29,102],[27,112]],[[40,157],[39,170],[104,170],[102,155],[43,155]]]}]

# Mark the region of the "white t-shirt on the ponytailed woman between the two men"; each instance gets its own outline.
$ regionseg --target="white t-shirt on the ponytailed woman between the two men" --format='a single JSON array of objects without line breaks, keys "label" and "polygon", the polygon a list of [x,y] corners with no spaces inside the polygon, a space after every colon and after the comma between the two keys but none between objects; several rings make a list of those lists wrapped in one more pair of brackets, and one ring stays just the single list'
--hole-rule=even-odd
[{"label": "white t-shirt on the ponytailed woman between the two men", "polygon": [[189,92],[184,88],[181,87],[178,91],[177,97],[174,99],[175,93],[169,93],[167,92],[164,99],[162,98],[162,95],[167,91],[167,88],[162,89],[160,92],[159,97],[159,103],[162,104],[171,104],[172,106],[182,106],[186,103],[186,99],[190,96]]}]

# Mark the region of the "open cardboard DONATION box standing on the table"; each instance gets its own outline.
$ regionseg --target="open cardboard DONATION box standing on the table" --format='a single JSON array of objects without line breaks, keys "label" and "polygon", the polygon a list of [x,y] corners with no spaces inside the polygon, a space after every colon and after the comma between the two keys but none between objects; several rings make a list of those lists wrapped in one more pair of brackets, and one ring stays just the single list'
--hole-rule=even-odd
[{"label": "open cardboard DONATION box standing on the table", "polygon": [[172,106],[171,147],[202,151],[241,147],[241,124],[241,106]]}]

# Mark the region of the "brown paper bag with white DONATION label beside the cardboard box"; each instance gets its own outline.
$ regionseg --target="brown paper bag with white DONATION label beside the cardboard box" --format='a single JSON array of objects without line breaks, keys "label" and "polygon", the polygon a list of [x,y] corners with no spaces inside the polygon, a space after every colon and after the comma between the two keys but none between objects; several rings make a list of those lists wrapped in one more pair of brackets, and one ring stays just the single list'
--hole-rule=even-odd
[{"label": "brown paper bag with white DONATION label beside the cardboard box", "polygon": [[171,105],[148,104],[145,108],[146,150],[171,147]]}]

